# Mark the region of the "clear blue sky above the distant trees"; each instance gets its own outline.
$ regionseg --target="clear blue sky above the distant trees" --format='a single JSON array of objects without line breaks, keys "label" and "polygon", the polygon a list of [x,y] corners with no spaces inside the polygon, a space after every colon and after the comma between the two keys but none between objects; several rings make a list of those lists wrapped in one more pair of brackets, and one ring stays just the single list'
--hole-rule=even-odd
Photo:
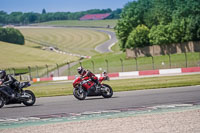
[{"label": "clear blue sky above the distant trees", "polygon": [[76,12],[89,9],[123,8],[133,0],[0,0],[0,10],[7,13],[14,11],[38,12],[44,8],[47,12]]}]

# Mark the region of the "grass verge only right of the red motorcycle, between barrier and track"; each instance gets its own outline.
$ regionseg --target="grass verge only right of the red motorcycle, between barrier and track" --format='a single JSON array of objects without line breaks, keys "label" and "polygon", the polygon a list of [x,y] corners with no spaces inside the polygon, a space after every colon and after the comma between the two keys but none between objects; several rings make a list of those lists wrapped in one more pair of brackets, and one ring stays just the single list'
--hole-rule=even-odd
[{"label": "grass verge only right of the red motorcycle, between barrier and track", "polygon": [[[109,82],[106,82],[109,83]],[[115,91],[157,89],[200,85],[200,75],[167,76],[142,79],[115,80],[109,83]]]}]

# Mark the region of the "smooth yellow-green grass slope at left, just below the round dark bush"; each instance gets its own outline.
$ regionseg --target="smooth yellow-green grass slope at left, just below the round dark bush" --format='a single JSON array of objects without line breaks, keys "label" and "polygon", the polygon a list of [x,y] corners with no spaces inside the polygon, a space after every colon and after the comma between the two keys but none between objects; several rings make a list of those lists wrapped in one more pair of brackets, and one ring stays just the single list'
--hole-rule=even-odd
[{"label": "smooth yellow-green grass slope at left, just below the round dark bush", "polygon": [[[27,42],[26,42],[27,43]],[[28,45],[37,46],[37,45]],[[28,66],[44,66],[63,64],[68,61],[77,60],[77,57],[44,51],[28,46],[21,46],[0,41],[0,69],[5,68],[27,68]]]}]

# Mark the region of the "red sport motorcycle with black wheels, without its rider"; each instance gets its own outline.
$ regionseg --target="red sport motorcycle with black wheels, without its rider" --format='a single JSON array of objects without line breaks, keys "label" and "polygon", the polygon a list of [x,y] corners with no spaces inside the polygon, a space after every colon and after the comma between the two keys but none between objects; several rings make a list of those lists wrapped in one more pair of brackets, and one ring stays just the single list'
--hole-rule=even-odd
[{"label": "red sport motorcycle with black wheels, without its rider", "polygon": [[113,90],[109,85],[102,83],[104,80],[109,80],[106,72],[98,78],[100,83],[99,87],[97,87],[97,84],[92,81],[92,79],[88,77],[82,78],[80,76],[73,82],[73,95],[78,100],[84,100],[87,96],[103,96],[104,98],[110,98],[113,95]]}]

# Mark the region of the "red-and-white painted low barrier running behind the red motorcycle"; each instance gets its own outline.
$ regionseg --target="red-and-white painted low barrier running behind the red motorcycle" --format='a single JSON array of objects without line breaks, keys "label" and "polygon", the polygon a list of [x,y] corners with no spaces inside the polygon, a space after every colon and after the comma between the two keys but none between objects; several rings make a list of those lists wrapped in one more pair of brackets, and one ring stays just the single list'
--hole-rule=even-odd
[{"label": "red-and-white painted low barrier running behind the red motorcycle", "polygon": [[[200,67],[189,67],[189,68],[173,68],[173,69],[158,69],[158,70],[145,70],[145,71],[131,71],[131,72],[117,72],[109,73],[110,78],[117,77],[128,77],[128,76],[148,76],[148,75],[164,75],[164,74],[181,74],[181,73],[191,73],[200,72]],[[96,74],[100,77],[101,74]],[[62,77],[48,77],[48,78],[35,78],[33,82],[39,81],[58,81],[58,80],[74,80],[75,76],[62,76]]]}]

